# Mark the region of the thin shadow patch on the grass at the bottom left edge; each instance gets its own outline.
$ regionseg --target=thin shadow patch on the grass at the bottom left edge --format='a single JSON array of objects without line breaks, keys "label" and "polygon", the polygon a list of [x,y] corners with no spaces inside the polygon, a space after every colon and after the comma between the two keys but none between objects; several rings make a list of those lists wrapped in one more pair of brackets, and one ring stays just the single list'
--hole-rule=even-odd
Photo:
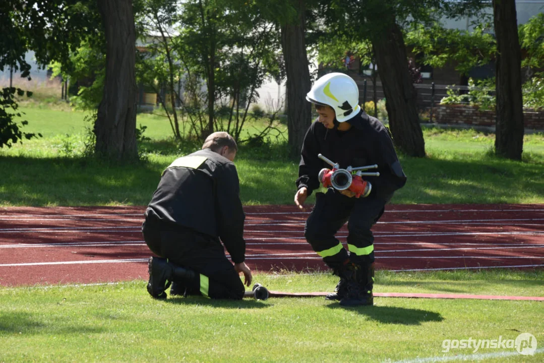
[{"label": "thin shadow patch on the grass at the bottom left edge", "polygon": [[10,312],[0,315],[0,336],[5,334],[82,334],[102,333],[104,329],[70,324],[61,326],[54,320],[41,322],[26,312]]}]

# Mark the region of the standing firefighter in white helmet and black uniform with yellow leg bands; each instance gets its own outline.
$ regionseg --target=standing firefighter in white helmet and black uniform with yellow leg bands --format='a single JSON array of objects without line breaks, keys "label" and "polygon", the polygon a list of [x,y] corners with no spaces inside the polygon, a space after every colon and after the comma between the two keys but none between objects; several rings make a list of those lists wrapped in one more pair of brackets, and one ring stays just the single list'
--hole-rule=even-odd
[{"label": "standing firefighter in white helmet and black uniform with yellow leg bands", "polygon": [[[307,196],[325,181],[318,177],[323,177],[320,171],[329,167],[323,157],[347,170],[377,165],[379,176],[360,179],[365,187],[362,195],[333,187],[317,193],[304,230],[313,250],[340,278],[336,292],[326,299],[339,300],[345,306],[373,305],[374,237],[370,229],[384,213],[394,191],[404,186],[406,175],[387,128],[358,106],[359,92],[351,77],[329,73],[319,78],[306,100],[315,104],[319,118],[308,128],[302,145],[297,206],[302,208]],[[335,237],[346,222],[349,252]]]}]

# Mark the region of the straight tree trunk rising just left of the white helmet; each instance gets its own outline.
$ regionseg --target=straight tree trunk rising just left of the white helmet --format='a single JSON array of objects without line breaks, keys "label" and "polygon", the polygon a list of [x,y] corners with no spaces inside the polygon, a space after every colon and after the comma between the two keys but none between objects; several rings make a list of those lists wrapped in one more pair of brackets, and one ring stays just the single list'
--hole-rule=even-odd
[{"label": "straight tree trunk rising just left of the white helmet", "polygon": [[289,153],[300,157],[302,141],[312,122],[311,103],[306,94],[312,88],[304,39],[304,0],[298,0],[298,23],[281,26],[281,47],[287,76],[287,131]]}]

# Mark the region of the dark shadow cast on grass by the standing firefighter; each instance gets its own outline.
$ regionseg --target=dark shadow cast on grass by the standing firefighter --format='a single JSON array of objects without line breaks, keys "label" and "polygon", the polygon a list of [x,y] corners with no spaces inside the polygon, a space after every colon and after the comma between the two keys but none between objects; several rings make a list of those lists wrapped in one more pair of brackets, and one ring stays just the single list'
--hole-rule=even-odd
[{"label": "dark shadow cast on grass by the standing firefighter", "polygon": [[420,325],[424,322],[441,322],[440,313],[421,309],[407,309],[395,306],[340,306],[330,304],[330,309],[343,309],[366,315],[370,319],[384,324]]}]

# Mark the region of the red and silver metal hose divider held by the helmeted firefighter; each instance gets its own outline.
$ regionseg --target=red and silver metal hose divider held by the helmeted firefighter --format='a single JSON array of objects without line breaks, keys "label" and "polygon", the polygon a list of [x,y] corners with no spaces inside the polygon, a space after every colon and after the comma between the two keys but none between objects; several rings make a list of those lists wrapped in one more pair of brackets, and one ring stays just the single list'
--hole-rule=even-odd
[{"label": "red and silver metal hose divider held by the helmeted firefighter", "polygon": [[380,176],[378,171],[363,171],[376,169],[378,168],[378,164],[356,168],[349,166],[341,169],[338,163],[330,161],[322,154],[319,154],[318,157],[332,167],[332,169],[323,168],[319,171],[318,179],[323,184],[323,187],[332,187],[340,191],[350,190],[355,193],[355,198],[360,198],[361,196],[364,198],[372,192],[372,184],[362,179],[362,176]]}]

